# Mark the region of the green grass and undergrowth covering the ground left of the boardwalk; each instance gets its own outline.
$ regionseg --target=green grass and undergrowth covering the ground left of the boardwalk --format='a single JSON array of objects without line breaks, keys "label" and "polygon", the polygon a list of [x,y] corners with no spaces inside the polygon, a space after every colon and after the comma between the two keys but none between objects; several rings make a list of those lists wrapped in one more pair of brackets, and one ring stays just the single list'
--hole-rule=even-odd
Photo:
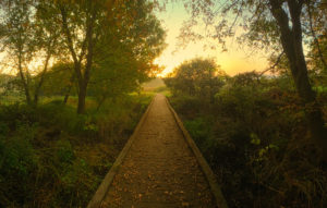
[{"label": "green grass and undergrowth covering the ground left of the boardwalk", "polygon": [[83,115],[61,100],[0,106],[0,207],[86,207],[150,99]]}]

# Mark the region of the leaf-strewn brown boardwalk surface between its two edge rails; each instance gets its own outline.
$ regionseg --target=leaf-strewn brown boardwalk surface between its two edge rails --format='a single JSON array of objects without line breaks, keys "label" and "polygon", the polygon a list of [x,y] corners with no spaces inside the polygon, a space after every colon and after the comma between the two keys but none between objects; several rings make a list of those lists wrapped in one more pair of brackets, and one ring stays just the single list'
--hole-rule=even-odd
[{"label": "leaf-strewn brown boardwalk surface between its two edge rails", "polygon": [[162,95],[155,97],[101,207],[215,207],[208,182]]}]

